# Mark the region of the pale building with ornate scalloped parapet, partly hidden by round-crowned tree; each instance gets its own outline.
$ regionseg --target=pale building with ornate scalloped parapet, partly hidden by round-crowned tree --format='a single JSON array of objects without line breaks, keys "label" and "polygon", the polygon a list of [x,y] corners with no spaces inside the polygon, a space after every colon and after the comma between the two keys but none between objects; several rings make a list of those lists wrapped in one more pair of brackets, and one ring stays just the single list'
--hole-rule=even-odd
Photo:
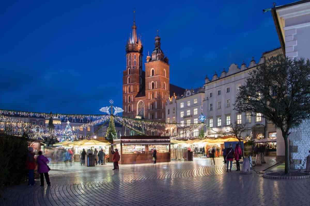
[{"label": "pale building with ornate scalloped parapet, partly hidden by round-crowned tree", "polygon": [[249,129],[241,134],[244,138],[262,138],[276,133],[272,124],[266,121],[260,113],[238,113],[234,110],[233,104],[239,87],[246,83],[249,72],[261,65],[266,58],[277,56],[279,53],[281,53],[281,48],[263,53],[258,64],[254,59],[248,67],[244,62],[240,68],[236,64],[231,64],[228,72],[224,70],[220,76],[215,73],[211,80],[206,77],[203,113],[206,116],[205,123],[209,126],[206,128],[208,137],[220,137],[221,134],[231,135],[228,125],[235,122],[237,124],[247,123]]}]

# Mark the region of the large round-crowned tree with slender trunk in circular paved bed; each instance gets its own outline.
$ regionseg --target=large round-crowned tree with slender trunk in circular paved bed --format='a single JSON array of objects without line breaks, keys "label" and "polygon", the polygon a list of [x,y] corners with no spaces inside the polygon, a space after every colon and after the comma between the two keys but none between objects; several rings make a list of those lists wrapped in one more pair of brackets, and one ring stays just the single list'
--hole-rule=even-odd
[{"label": "large round-crowned tree with slender trunk in circular paved bed", "polygon": [[271,120],[285,142],[285,174],[290,174],[290,129],[310,118],[310,61],[271,57],[252,70],[240,87],[235,109]]}]

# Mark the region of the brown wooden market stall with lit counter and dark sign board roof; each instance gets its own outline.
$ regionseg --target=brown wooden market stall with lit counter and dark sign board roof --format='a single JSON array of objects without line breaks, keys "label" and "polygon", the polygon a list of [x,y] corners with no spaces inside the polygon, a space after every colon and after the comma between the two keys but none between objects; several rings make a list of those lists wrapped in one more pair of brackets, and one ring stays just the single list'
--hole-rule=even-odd
[{"label": "brown wooden market stall with lit counter and dark sign board roof", "polygon": [[153,162],[153,150],[157,150],[156,162],[170,162],[170,137],[130,136],[113,140],[113,148],[121,155],[119,164]]}]

